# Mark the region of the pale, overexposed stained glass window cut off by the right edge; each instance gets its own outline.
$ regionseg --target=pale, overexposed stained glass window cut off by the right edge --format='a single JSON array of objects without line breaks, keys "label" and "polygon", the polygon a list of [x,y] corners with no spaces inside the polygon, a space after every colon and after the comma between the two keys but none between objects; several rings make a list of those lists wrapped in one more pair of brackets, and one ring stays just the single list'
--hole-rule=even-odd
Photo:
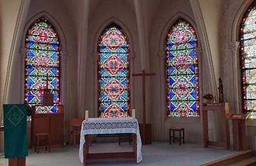
[{"label": "pale, overexposed stained glass window cut off by the right edge", "polygon": [[240,62],[243,113],[256,118],[256,1],[249,7],[240,28]]}]

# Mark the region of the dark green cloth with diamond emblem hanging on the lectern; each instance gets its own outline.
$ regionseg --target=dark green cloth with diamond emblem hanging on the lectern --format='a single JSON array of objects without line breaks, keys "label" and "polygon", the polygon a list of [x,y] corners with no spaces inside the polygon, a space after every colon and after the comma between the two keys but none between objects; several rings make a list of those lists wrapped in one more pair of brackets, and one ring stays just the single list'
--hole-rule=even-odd
[{"label": "dark green cloth with diamond emblem hanging on the lectern", "polygon": [[4,104],[4,156],[28,156],[27,106]]}]

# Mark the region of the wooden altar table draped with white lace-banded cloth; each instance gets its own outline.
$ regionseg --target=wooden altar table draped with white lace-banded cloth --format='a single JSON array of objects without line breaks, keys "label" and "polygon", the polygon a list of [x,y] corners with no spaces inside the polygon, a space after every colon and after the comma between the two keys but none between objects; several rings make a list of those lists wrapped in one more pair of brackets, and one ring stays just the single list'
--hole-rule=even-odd
[{"label": "wooden altar table draped with white lace-banded cloth", "polygon": [[[89,153],[88,137],[92,134],[132,133],[133,151],[122,153]],[[84,120],[81,128],[79,158],[86,165],[90,158],[134,158],[141,162],[141,137],[137,119],[132,117],[104,117]]]}]

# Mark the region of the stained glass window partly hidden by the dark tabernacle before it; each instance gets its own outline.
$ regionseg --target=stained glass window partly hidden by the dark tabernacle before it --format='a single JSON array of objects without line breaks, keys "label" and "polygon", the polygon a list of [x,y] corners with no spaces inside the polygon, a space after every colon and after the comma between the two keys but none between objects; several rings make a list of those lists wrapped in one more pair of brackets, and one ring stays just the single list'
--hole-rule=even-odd
[{"label": "stained glass window partly hidden by the dark tabernacle before it", "polygon": [[60,102],[60,41],[49,20],[36,20],[26,34],[25,103],[40,104],[40,95],[48,88],[54,96],[54,106],[36,107],[36,113],[57,112]]}]

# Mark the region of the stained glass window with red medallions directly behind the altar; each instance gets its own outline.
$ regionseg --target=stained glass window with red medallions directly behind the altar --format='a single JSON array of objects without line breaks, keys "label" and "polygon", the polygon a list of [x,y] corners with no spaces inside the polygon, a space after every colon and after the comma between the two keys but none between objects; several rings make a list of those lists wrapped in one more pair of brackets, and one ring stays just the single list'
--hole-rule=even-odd
[{"label": "stained glass window with red medallions directly behind the altar", "polygon": [[111,24],[98,41],[98,110],[100,117],[127,117],[130,109],[129,41]]}]

